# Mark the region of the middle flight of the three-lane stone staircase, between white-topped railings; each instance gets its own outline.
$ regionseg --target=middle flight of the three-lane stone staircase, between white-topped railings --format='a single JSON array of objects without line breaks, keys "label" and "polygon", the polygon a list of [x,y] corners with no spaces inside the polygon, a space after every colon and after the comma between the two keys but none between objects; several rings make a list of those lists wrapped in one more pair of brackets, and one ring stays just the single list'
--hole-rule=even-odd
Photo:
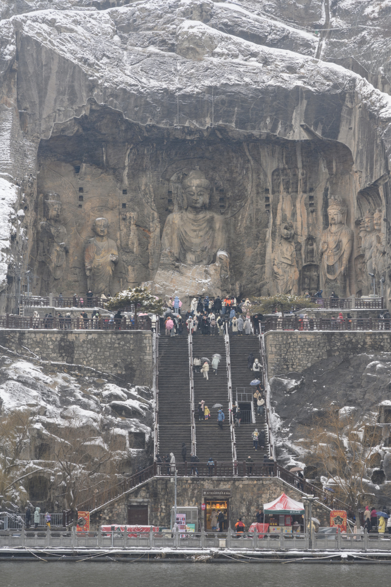
[{"label": "middle flight of the three-lane stone staircase, between white-topped railings", "polygon": [[[212,361],[212,355],[215,353],[222,356],[217,369],[217,376],[213,373],[212,366],[210,366],[208,374],[209,380],[206,380],[202,373],[194,373],[193,375],[196,453],[202,462],[206,462],[209,457],[212,457],[215,461],[232,463],[224,337],[201,335],[200,332],[193,336],[193,357],[208,357]],[[198,420],[198,404],[201,400],[205,400],[206,406],[210,409],[211,416],[209,420]],[[212,409],[215,403],[220,403],[223,406],[225,414],[223,430],[220,430],[217,424],[218,409]]]}]

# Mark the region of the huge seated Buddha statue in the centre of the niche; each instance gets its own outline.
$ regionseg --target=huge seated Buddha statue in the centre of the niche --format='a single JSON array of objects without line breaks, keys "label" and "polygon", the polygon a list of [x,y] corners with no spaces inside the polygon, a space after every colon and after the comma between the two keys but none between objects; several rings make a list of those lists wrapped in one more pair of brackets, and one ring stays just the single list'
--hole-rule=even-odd
[{"label": "huge seated Buddha statue in the centre of the niche", "polygon": [[182,189],[184,209],[164,225],[154,291],[222,295],[230,288],[225,218],[208,210],[210,183],[201,171],[191,171]]}]

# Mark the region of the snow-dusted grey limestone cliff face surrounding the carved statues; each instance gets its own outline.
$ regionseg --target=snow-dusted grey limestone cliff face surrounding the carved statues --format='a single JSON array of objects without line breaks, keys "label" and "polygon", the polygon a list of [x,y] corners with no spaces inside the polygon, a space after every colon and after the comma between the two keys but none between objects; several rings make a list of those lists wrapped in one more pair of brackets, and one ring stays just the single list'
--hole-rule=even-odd
[{"label": "snow-dusted grey limestone cliff face surrounding the carved statues", "polygon": [[[227,293],[317,289],[331,197],[353,231],[340,295],[369,293],[368,209],[381,217],[369,232],[384,249],[373,259],[388,291],[381,7],[361,12],[364,37],[349,32],[347,1],[338,14],[328,2],[294,14],[280,0],[114,4],[0,4],[0,173],[20,187],[14,207],[25,212],[9,250],[39,276],[37,291],[49,293],[36,232],[48,194],[62,203],[69,242],[63,293],[87,290],[83,252],[97,217],[118,247],[114,293],[154,279],[165,220],[195,169],[211,184],[210,210],[225,217]],[[338,27],[347,32],[317,32]]]}]

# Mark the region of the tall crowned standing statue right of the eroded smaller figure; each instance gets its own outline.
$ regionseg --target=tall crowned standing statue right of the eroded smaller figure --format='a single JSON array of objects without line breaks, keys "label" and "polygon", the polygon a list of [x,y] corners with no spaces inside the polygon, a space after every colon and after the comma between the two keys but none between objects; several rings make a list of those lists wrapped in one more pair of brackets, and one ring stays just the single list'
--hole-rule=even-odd
[{"label": "tall crowned standing statue right of the eroded smaller figure", "polygon": [[353,247],[353,231],[346,226],[346,204],[330,198],[327,208],[329,226],[321,238],[321,289],[324,297],[332,291],[340,298],[348,294],[348,265]]}]

